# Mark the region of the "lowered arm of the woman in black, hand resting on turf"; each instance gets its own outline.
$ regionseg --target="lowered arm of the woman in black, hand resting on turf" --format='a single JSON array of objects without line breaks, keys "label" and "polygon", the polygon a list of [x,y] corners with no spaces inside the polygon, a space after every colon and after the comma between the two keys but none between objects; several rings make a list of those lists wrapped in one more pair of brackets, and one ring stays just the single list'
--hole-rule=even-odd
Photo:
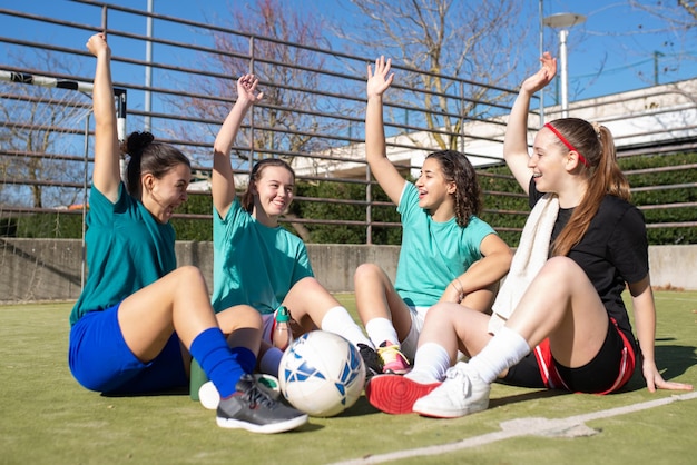
[{"label": "lowered arm of the woman in black, hand resting on turf", "polygon": [[646,386],[649,392],[656,389],[670,390],[691,390],[689,384],[667,382],[660,376],[656,367],[654,358],[656,339],[656,305],[654,303],[654,293],[647,276],[639,283],[630,284],[629,293],[631,294],[631,305],[635,314],[635,325],[637,329],[637,339],[644,355],[644,365],[641,370],[646,379]]}]

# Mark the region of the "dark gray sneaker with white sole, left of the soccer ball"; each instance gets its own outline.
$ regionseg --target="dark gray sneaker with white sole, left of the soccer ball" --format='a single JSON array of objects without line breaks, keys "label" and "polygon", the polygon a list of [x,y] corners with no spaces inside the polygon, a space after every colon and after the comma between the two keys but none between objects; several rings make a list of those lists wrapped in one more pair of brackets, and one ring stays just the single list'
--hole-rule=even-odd
[{"label": "dark gray sneaker with white sole, left of the soccer ball", "polygon": [[271,398],[254,376],[244,375],[236,387],[237,392],[218,405],[216,422],[219,427],[271,434],[307,423],[307,414]]}]

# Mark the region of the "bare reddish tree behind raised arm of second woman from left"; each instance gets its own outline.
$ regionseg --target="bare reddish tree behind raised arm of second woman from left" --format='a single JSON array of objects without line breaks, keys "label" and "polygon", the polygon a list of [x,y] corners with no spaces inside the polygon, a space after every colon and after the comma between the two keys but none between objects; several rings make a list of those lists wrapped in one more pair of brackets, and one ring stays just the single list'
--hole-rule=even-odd
[{"label": "bare reddish tree behind raised arm of second woman from left", "polygon": [[[259,78],[264,99],[255,106],[254,142],[244,142],[251,131],[242,131],[236,151],[240,166],[248,156],[243,147],[253,147],[257,156],[277,155],[292,161],[301,152],[317,151],[328,144],[342,123],[330,117],[326,102],[316,91],[327,87],[322,76],[323,55],[315,49],[325,43],[322,21],[311,13],[283,7],[279,0],[261,0],[255,9],[229,10],[230,31],[214,32],[217,49],[202,63],[217,73],[216,79],[197,78],[192,88],[199,95],[216,96],[186,99],[186,111],[199,118],[223,121],[229,101],[236,98],[236,79],[247,72]],[[325,47],[326,48],[326,47]]]}]

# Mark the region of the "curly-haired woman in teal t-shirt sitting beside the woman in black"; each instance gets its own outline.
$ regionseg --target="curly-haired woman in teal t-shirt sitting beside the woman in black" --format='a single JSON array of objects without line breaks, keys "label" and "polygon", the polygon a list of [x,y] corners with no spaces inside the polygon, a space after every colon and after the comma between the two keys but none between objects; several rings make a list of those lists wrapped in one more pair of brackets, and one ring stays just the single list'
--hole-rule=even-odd
[{"label": "curly-haired woman in teal t-shirt sitting beside the woman in black", "polygon": [[425,314],[438,301],[490,309],[511,250],[479,219],[480,189],[463,154],[430,154],[415,184],[408,182],[386,156],[383,93],[392,85],[390,60],[367,69],[365,157],[380,187],[402,216],[396,280],[376,264],[354,275],[356,308],[377,347],[383,372],[404,374],[413,360]]}]

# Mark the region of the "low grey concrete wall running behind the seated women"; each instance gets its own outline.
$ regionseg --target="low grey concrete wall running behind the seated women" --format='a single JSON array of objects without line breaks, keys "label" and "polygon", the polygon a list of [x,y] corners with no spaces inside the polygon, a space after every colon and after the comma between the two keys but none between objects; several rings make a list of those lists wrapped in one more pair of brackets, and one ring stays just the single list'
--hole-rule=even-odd
[{"label": "low grey concrete wall running behind the seated women", "polygon": [[[81,244],[72,239],[0,238],[0,303],[73,300],[80,294]],[[308,245],[317,279],[331,291],[352,291],[353,271],[380,264],[394,279],[397,246]],[[177,243],[179,265],[196,265],[210,286],[210,243]],[[697,289],[697,245],[649,249],[654,286]]]}]

